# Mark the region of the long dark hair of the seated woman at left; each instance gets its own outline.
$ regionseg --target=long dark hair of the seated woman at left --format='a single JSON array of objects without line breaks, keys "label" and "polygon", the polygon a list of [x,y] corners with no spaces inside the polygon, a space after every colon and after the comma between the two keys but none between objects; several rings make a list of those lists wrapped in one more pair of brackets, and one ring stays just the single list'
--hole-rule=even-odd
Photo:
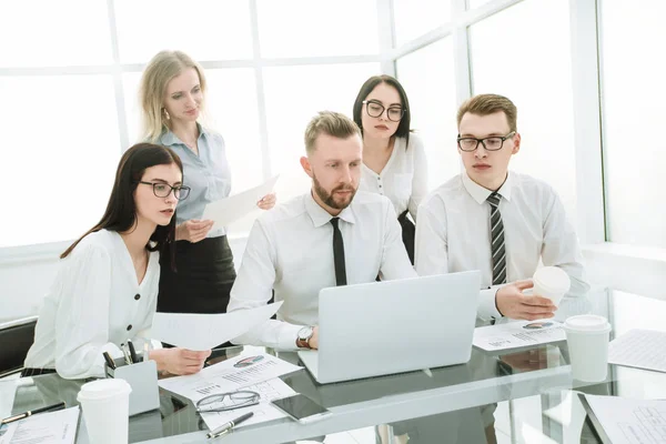
[{"label": "long dark hair of the seated woman at left", "polygon": [[[117,231],[119,233],[131,230],[137,224],[137,203],[134,202],[134,191],[138,182],[143,176],[143,172],[155,165],[170,165],[175,163],[183,172],[183,164],[171,149],[155,145],[152,143],[138,143],[124,152],[118,163],[113,190],[107,204],[107,211],[102,220],[98,222],[85,234],[79,238],[67,249],[60,259],[67,258],[74,248],[90,233],[100,230]],[[148,251],[160,251],[161,255],[169,255],[173,264],[175,249],[172,248],[175,239],[175,212],[168,225],[158,225],[150,236],[154,245],[145,245]]]}]

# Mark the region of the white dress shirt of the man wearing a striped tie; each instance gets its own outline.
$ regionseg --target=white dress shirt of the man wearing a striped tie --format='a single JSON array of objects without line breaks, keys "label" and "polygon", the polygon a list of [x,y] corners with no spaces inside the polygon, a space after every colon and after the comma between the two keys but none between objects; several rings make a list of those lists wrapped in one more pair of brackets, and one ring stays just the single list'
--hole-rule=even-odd
[{"label": "white dress shirt of the man wearing a striped tie", "polygon": [[[500,317],[491,259],[492,191],[466,173],[433,191],[421,204],[416,223],[415,266],[420,275],[481,270],[478,315]],[[539,259],[563,269],[572,280],[566,297],[584,296],[583,255],[574,228],[555,191],[529,175],[509,172],[497,193],[504,223],[506,282],[531,279]]]}]

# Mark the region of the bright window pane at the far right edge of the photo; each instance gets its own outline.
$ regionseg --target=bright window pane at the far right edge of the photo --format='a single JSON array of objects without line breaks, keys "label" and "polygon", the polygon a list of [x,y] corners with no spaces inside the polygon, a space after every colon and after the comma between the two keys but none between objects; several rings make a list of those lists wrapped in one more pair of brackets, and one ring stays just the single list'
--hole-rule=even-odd
[{"label": "bright window pane at the far right edge of the photo", "polygon": [[666,248],[666,205],[660,202],[666,62],[650,44],[666,40],[666,3],[604,1],[601,11],[608,238]]}]

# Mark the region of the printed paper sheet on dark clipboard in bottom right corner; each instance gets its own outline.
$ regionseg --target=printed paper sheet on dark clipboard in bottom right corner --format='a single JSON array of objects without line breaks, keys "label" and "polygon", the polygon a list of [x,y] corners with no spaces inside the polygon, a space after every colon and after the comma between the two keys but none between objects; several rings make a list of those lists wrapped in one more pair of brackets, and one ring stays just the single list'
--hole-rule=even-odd
[{"label": "printed paper sheet on dark clipboard in bottom right corner", "polygon": [[585,398],[613,444],[666,444],[666,401]]}]

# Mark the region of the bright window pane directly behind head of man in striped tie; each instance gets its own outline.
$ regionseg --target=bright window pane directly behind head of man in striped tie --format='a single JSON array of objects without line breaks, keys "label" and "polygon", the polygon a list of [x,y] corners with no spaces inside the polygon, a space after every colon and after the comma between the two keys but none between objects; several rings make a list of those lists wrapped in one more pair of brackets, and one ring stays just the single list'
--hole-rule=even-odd
[{"label": "bright window pane directly behind head of man in striped tie", "polygon": [[509,168],[553,185],[574,223],[568,2],[525,0],[505,9],[470,28],[470,48],[474,94],[502,94],[518,109],[523,141]]}]

